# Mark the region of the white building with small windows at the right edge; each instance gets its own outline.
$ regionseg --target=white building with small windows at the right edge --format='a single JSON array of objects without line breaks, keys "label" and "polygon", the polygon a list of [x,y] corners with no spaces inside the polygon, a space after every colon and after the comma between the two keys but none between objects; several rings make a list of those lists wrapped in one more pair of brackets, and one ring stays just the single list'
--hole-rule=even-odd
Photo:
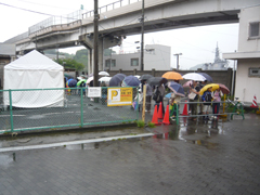
[{"label": "white building with small windows at the right edge", "polygon": [[251,104],[256,95],[260,105],[260,5],[240,11],[238,51],[223,57],[237,60],[235,98]]}]

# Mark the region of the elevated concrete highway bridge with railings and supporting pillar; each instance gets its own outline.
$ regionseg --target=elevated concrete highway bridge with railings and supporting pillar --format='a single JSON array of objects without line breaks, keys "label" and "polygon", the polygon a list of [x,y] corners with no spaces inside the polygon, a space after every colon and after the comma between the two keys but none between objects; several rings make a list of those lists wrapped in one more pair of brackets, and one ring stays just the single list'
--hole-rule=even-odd
[{"label": "elevated concrete highway bridge with railings and supporting pillar", "polygon": [[[238,23],[243,8],[259,3],[260,0],[145,0],[144,32]],[[126,36],[141,34],[142,1],[117,1],[100,8],[99,13],[99,68],[102,69],[103,49],[120,44]],[[93,11],[69,14],[65,21],[51,17],[5,42],[15,43],[16,52],[22,54],[36,48],[47,50],[84,46],[90,50],[91,73],[93,20]]]}]

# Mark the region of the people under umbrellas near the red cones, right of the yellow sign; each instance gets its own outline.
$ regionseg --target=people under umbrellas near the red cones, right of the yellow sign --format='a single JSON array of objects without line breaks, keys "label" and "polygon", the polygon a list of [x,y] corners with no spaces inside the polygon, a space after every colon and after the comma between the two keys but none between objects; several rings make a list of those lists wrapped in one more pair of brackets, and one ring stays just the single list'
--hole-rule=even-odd
[{"label": "people under umbrellas near the red cones, right of the yellow sign", "polygon": [[[178,81],[179,82],[179,81]],[[208,88],[203,95],[199,94],[200,90],[207,84],[207,80],[205,81],[195,81],[193,80],[187,90],[188,98],[188,115],[193,117],[188,117],[191,120],[196,120],[196,115],[202,115],[203,120],[209,120],[209,113],[216,114],[213,117],[217,118],[219,114],[219,107],[221,102],[221,96],[223,93],[220,89],[212,91],[212,88]],[[134,101],[139,100],[139,110],[143,107],[143,86],[146,86],[146,102],[145,102],[145,112],[151,112],[152,100],[154,101],[154,105],[162,106],[162,113],[165,114],[165,105],[164,98],[166,94],[167,84],[158,84],[158,86],[150,86],[146,80],[141,81],[139,87],[139,93],[135,96]],[[171,96],[168,99],[167,104],[169,104],[170,113],[173,109],[174,104],[179,104],[181,101],[181,96],[171,92]],[[200,103],[198,103],[200,102]],[[199,106],[198,106],[199,105]],[[199,110],[198,110],[199,109]],[[176,116],[176,112],[173,116]]]}]

